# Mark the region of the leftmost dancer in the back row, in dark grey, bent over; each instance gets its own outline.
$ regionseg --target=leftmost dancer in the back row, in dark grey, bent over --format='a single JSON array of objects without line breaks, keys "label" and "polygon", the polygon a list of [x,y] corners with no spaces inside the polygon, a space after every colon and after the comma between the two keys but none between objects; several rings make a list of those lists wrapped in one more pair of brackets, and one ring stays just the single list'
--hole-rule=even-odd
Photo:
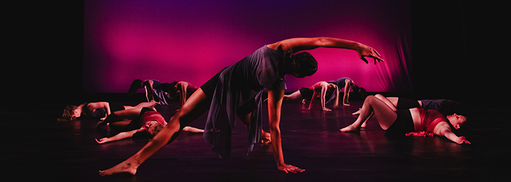
[{"label": "leftmost dancer in the back row, in dark grey, bent over", "polygon": [[133,97],[135,92],[142,87],[145,88],[147,102],[154,100],[161,105],[168,105],[173,98],[173,95],[170,94],[173,90],[170,83],[161,83],[159,80],[142,81],[140,79],[133,80],[128,90],[128,97]]}]

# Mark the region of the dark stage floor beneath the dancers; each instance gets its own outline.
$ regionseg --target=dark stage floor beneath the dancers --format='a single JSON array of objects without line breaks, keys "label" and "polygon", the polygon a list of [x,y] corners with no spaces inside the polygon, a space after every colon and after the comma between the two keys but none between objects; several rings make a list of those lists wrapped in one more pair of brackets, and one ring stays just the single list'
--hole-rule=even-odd
[{"label": "dark stage floor beneath the dancers", "polygon": [[[127,103],[135,104],[135,103]],[[323,112],[300,111],[298,103],[284,103],[281,132],[286,163],[306,171],[279,172],[270,146],[258,144],[246,155],[246,131],[241,123],[233,133],[233,158],[220,160],[201,134],[183,133],[138,169],[135,176],[98,176],[98,170],[117,165],[147,143],[135,137],[107,144],[95,120],[57,123],[65,104],[1,113],[2,179],[13,181],[510,181],[509,111],[467,108],[470,130],[463,133],[472,145],[458,145],[442,137],[385,135],[376,120],[357,133],[339,132],[352,123],[361,106]],[[175,105],[159,106],[166,118]],[[484,107],[482,107],[484,108]],[[31,108],[27,108],[31,109]],[[267,114],[265,130],[267,130]],[[204,127],[201,116],[192,123]],[[4,180],[2,180],[4,181]]]}]

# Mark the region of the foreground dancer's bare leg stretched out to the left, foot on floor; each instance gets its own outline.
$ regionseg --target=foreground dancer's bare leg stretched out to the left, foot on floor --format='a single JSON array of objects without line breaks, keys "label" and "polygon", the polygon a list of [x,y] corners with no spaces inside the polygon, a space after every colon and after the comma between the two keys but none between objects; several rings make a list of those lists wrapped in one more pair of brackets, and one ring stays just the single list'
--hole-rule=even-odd
[{"label": "foreground dancer's bare leg stretched out to the left, foot on floor", "polygon": [[203,113],[208,111],[211,102],[206,99],[206,94],[199,88],[175,115],[168,121],[168,124],[154,138],[147,143],[138,153],[131,156],[119,165],[116,165],[105,171],[99,171],[100,176],[109,176],[119,173],[128,173],[135,175],[137,168],[145,162],[147,158],[156,153],[161,147],[169,141],[178,137],[181,128],[192,123]]}]

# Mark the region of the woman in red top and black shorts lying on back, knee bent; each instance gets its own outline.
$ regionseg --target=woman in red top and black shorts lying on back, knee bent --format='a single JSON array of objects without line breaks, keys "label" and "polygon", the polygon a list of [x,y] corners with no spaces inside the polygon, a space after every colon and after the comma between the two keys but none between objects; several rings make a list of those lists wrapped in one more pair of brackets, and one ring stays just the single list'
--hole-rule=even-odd
[{"label": "woman in red top and black shorts lying on back, knee bent", "polygon": [[418,108],[397,110],[385,97],[384,99],[379,99],[372,95],[364,100],[357,120],[351,125],[340,129],[340,131],[359,131],[360,125],[371,114],[376,116],[380,127],[387,134],[404,135],[409,132],[426,132],[446,137],[456,142],[456,144],[470,144],[465,137],[458,137],[451,131],[451,125],[459,129],[465,123],[467,120],[465,116],[454,113],[444,117],[438,111]]}]

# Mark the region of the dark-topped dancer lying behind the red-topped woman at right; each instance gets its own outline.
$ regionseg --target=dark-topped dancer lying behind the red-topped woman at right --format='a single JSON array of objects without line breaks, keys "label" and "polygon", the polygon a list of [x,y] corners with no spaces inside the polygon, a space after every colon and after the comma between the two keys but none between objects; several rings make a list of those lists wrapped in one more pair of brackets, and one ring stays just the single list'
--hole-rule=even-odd
[{"label": "dark-topped dancer lying behind the red-topped woman at right", "polygon": [[[375,97],[378,99],[388,99],[397,110],[400,109],[412,109],[422,108],[425,110],[435,110],[442,113],[443,116],[449,116],[456,112],[456,109],[460,108],[461,103],[454,102],[449,99],[422,99],[413,100],[401,97],[385,97],[382,94],[376,94]],[[353,115],[359,114],[360,111],[354,112]],[[371,117],[367,118],[369,120]],[[366,127],[367,122],[362,123],[360,127]]]}]

